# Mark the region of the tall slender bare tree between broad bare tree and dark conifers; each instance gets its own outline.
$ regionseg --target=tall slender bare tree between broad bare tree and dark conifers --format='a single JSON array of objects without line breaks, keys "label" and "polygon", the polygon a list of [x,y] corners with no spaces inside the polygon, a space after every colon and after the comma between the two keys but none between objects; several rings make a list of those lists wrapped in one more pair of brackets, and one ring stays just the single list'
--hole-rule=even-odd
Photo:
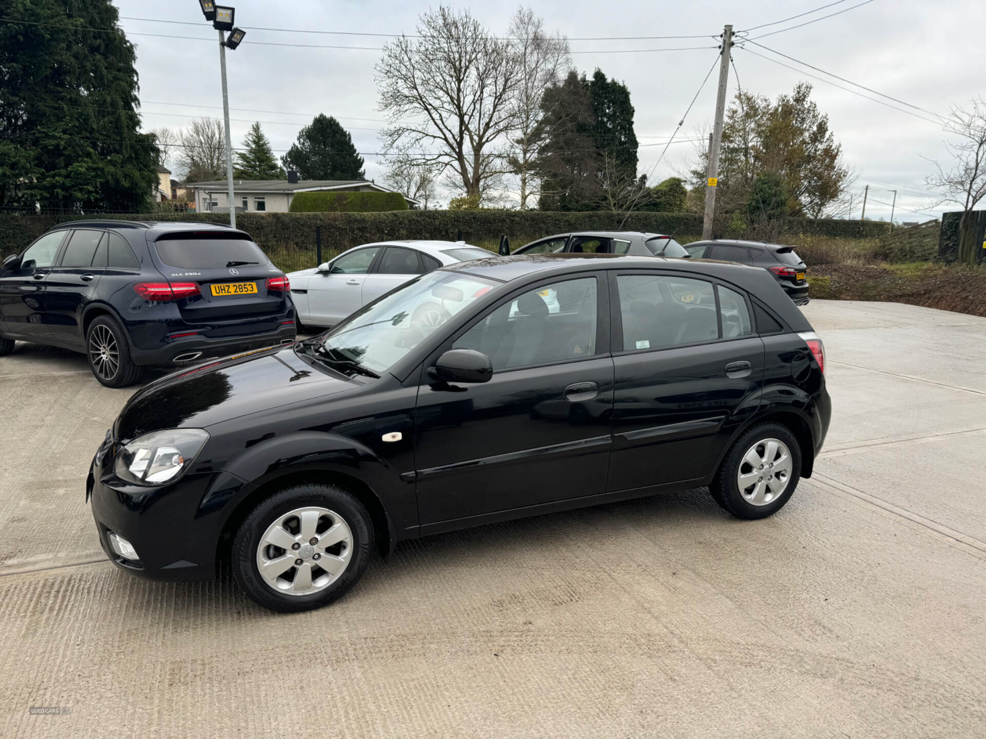
[{"label": "tall slender bare tree between broad bare tree and dark conifers", "polygon": [[539,194],[534,175],[535,160],[544,127],[541,101],[544,91],[558,83],[571,65],[568,39],[558,33],[544,33],[544,23],[530,8],[518,8],[507,34],[521,67],[521,80],[512,101],[515,128],[511,132],[508,163],[520,180],[521,210],[528,210],[528,199]]}]

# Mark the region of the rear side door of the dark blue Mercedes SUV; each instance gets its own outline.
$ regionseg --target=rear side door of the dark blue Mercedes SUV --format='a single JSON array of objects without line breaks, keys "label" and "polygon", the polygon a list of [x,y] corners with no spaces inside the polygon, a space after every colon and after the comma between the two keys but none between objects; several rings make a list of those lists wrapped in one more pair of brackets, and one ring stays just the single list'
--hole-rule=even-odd
[{"label": "rear side door of the dark blue Mercedes SUV", "polygon": [[45,280],[45,304],[51,338],[83,346],[82,310],[96,297],[103,268],[94,268],[93,259],[105,231],[76,229],[69,235],[57,266]]}]

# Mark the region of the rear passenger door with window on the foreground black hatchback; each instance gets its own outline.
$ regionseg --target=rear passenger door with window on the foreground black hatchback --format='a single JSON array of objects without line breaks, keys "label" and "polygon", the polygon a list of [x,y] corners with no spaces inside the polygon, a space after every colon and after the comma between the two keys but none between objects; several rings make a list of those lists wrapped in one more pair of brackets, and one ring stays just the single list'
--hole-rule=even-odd
[{"label": "rear passenger door with window on the foreground black hatchback", "polygon": [[763,342],[724,285],[613,273],[611,492],[704,477],[759,404]]}]

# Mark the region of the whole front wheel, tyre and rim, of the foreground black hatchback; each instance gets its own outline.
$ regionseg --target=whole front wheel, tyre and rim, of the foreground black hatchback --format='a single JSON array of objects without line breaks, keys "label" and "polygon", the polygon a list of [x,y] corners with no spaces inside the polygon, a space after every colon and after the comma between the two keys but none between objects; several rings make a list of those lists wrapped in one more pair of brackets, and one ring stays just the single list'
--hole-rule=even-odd
[{"label": "whole front wheel, tyre and rim, of the foreground black hatchback", "polygon": [[309,611],[345,595],[366,571],[373,547],[370,514],[355,496],[335,485],[296,485],[246,515],[233,540],[233,572],[264,608]]}]

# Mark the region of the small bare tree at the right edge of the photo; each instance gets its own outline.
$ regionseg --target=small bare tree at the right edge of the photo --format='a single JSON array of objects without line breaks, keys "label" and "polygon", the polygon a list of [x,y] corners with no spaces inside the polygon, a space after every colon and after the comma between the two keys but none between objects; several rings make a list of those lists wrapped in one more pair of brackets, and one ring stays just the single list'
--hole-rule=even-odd
[{"label": "small bare tree at the right edge of the photo", "polygon": [[958,222],[958,260],[976,264],[978,250],[974,242],[973,219],[969,214],[986,197],[986,101],[971,101],[968,110],[953,107],[945,130],[957,137],[956,142],[946,142],[952,157],[952,167],[943,168],[935,162],[938,173],[927,178],[928,186],[943,194],[939,201],[956,203],[962,208]]}]

